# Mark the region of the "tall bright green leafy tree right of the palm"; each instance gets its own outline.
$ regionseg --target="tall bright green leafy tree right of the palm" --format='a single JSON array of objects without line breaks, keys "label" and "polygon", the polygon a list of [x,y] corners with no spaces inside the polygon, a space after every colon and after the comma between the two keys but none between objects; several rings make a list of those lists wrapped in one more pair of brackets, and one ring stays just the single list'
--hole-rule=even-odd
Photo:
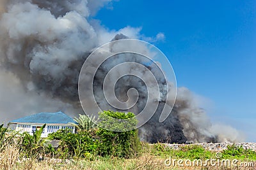
[{"label": "tall bright green leafy tree right of the palm", "polygon": [[[112,118],[118,118],[120,120],[129,120],[127,122],[113,122]],[[113,111],[104,111],[99,113],[99,129],[96,134],[99,136],[100,141],[100,155],[111,155],[114,157],[132,157],[140,150],[140,142],[138,139],[138,130],[131,130],[125,132],[115,132],[124,127],[132,129],[136,128],[138,120],[136,120],[133,113],[122,113]],[[109,127],[112,131],[103,129]]]}]

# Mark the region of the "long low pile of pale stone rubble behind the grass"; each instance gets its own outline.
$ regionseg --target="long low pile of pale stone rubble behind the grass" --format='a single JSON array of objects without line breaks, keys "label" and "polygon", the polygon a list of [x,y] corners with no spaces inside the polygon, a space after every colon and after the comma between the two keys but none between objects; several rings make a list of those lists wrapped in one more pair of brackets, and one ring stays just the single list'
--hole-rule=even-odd
[{"label": "long low pile of pale stone rubble behind the grass", "polygon": [[170,148],[178,150],[182,146],[186,145],[201,145],[205,150],[221,151],[226,150],[228,145],[242,146],[244,149],[250,149],[256,151],[256,143],[193,143],[193,144],[169,144],[166,143]]}]

